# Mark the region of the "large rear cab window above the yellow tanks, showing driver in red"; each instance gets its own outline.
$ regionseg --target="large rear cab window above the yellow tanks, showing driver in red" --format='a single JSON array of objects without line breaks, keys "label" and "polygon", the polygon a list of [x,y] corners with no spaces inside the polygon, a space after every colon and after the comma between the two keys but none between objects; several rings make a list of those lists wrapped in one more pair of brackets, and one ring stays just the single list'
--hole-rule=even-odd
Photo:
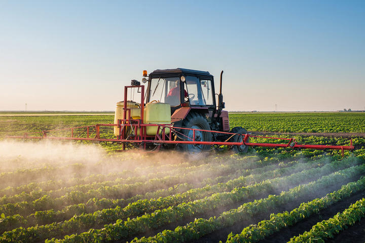
[{"label": "large rear cab window above the yellow tanks, showing driver in red", "polygon": [[150,84],[150,100],[168,103],[171,106],[180,104],[180,77],[152,78]]}]

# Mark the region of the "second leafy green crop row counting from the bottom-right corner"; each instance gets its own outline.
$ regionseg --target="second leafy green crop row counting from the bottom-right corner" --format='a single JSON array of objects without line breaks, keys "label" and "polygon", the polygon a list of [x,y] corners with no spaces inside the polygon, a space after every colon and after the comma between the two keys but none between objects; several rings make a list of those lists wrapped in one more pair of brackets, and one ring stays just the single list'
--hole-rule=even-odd
[{"label": "second leafy green crop row counting from the bottom-right corner", "polygon": [[[227,243],[253,243],[261,239],[268,237],[281,230],[284,227],[294,225],[309,216],[318,213],[320,210],[326,209],[327,207],[341,201],[345,198],[350,197],[358,191],[365,189],[365,178],[362,177],[356,182],[350,182],[343,185],[340,190],[331,192],[322,198],[316,198],[309,203],[302,203],[300,207],[294,209],[290,213],[283,212],[275,215],[271,215],[269,220],[263,220],[257,225],[248,226],[242,230],[239,234],[230,234],[227,239]],[[322,227],[319,227],[323,230]],[[314,228],[313,228],[314,229]],[[328,232],[327,232],[328,233]],[[316,242],[318,235],[315,235]],[[306,240],[309,238],[307,237]],[[291,242],[306,242],[304,237],[298,237],[293,239]],[[324,242],[324,241],[323,241]]]}]

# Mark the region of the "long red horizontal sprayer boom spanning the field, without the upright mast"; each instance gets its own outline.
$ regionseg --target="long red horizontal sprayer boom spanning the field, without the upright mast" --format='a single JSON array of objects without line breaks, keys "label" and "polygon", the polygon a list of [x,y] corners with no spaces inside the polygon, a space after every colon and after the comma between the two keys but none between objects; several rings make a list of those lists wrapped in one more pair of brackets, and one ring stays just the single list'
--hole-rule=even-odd
[{"label": "long red horizontal sprayer boom spanning the field, without the upright mast", "polygon": [[[121,134],[123,133],[124,128],[132,128],[134,131],[142,130],[141,136],[127,137],[127,138],[101,138],[100,129],[103,128],[111,128],[118,127],[120,129]],[[143,131],[145,131],[149,127],[156,127],[157,133],[152,138],[151,136],[146,136],[145,133],[143,135]],[[78,131],[76,134],[75,131]],[[239,136],[240,139],[236,142],[231,141],[197,141],[195,140],[195,136],[193,138],[186,137],[185,140],[174,140],[174,136],[172,134],[177,134],[178,136],[184,136],[184,133],[181,130],[189,130],[191,133],[199,133],[199,132],[209,132],[209,133],[217,133],[224,134],[229,137]],[[70,134],[69,137],[62,136],[52,136],[52,133],[60,132],[60,131],[68,131]],[[167,134],[165,131],[169,131]],[[35,136],[39,134],[38,136]],[[84,136],[81,136],[84,134]],[[33,135],[33,136],[30,136]],[[86,135],[86,136],[85,136]],[[93,126],[85,126],[85,127],[75,127],[75,128],[66,128],[66,129],[57,129],[57,130],[48,130],[42,131],[39,133],[25,133],[23,136],[8,136],[8,138],[17,138],[17,139],[50,139],[50,140],[75,140],[75,141],[95,141],[95,142],[115,142],[122,143],[126,148],[131,148],[131,145],[135,145],[134,147],[140,149],[146,149],[147,145],[154,145],[157,149],[159,149],[162,145],[178,145],[178,144],[190,144],[193,146],[210,145],[210,146],[258,146],[258,147],[271,147],[271,148],[304,148],[304,149],[335,149],[341,150],[342,155],[344,154],[344,150],[352,150],[354,146],[352,145],[352,139],[350,140],[350,145],[312,145],[312,144],[299,144],[296,142],[294,138],[277,138],[277,137],[267,137],[267,136],[255,136],[250,134],[235,134],[228,132],[218,132],[218,131],[210,131],[210,130],[202,130],[202,129],[190,129],[190,128],[182,128],[182,127],[173,127],[171,124],[128,124],[128,120],[120,120],[119,124],[97,124]],[[260,138],[268,140],[267,143],[251,143],[247,142],[249,138]],[[229,140],[229,139],[228,139]],[[286,141],[285,143],[276,143],[275,141]],[[156,148],[154,150],[156,150]]]}]

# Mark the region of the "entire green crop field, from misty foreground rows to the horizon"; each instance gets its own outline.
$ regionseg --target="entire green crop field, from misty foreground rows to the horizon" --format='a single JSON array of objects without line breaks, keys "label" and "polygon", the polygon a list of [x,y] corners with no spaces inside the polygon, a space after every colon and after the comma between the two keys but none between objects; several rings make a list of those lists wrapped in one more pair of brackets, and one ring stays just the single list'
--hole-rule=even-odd
[{"label": "entire green crop field, from misty foreground rows to the horizon", "polygon": [[[113,119],[0,116],[0,242],[365,242],[362,137],[352,137],[355,149],[344,157],[251,147],[199,160],[177,151],[121,153],[109,143],[5,138]],[[230,114],[230,126],[268,134],[364,133],[365,113]]]}]

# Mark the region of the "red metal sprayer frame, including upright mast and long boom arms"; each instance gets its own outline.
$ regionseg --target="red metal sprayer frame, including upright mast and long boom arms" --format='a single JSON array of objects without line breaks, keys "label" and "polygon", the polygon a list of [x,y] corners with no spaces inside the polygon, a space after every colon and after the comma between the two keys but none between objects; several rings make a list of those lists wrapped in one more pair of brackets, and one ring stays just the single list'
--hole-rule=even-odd
[{"label": "red metal sprayer frame, including upright mast and long boom arms", "polygon": [[[131,109],[127,108],[127,94],[128,89],[132,88],[140,88],[141,89],[141,102],[140,102],[140,119],[132,119],[131,118]],[[202,129],[190,129],[190,128],[180,128],[173,127],[172,124],[144,124],[143,123],[143,110],[144,110],[144,86],[126,86],[124,88],[124,107],[123,107],[123,119],[118,120],[118,124],[97,124],[92,126],[84,126],[84,127],[75,127],[75,128],[64,128],[64,129],[56,129],[56,130],[48,130],[42,132],[35,133],[24,133],[23,136],[8,136],[9,138],[20,138],[20,139],[55,139],[55,140],[83,140],[83,141],[98,141],[98,142],[118,142],[123,144],[123,150],[126,149],[126,143],[137,143],[139,147],[142,149],[146,148],[147,143],[156,144],[158,148],[162,144],[207,144],[207,145],[246,145],[246,146],[261,146],[261,147],[282,147],[282,148],[307,148],[307,149],[336,149],[341,150],[342,155],[344,154],[344,150],[354,149],[352,145],[352,140],[350,141],[350,146],[348,145],[310,145],[310,144],[298,144],[294,138],[277,138],[277,137],[266,137],[266,136],[254,136],[249,134],[241,134],[242,141],[240,142],[218,142],[218,141],[195,141],[195,131],[209,132],[209,133],[217,133],[217,134],[226,134],[228,136],[235,135],[234,133],[229,132],[220,132],[220,131],[210,131],[210,130],[202,130]],[[155,136],[147,135],[147,127],[158,127],[157,133]],[[100,138],[100,127],[119,127],[119,136],[116,139],[106,139]],[[131,128],[133,131],[139,130],[138,133],[134,133],[132,139],[130,138],[130,134],[126,131],[126,128]],[[86,137],[75,137],[75,130],[83,129],[83,133],[86,131]],[[165,130],[169,129],[170,132],[166,135]],[[178,132],[180,130],[193,130],[193,138],[189,138],[186,135]],[[56,131],[66,131],[70,130],[71,137],[55,137],[49,136],[50,133]],[[42,136],[29,136],[29,134],[39,134],[42,133]],[[83,134],[82,133],[82,134]],[[91,134],[95,136],[90,137]],[[161,135],[160,135],[161,133]],[[179,136],[186,137],[187,140],[175,141],[172,133],[177,133]],[[287,140],[287,143],[250,143],[248,142],[249,138],[264,138],[271,140]]]}]

